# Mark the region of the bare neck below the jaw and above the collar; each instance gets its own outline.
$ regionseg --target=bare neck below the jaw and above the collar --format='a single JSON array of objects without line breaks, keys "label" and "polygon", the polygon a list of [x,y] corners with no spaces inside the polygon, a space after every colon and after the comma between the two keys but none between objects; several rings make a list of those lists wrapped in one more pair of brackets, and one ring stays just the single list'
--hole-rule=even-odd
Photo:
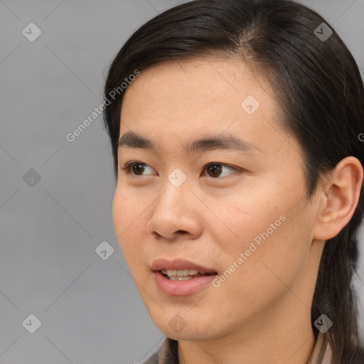
[{"label": "bare neck below the jaw and above the collar", "polygon": [[[294,307],[279,315],[260,316],[244,331],[211,341],[178,341],[180,364],[306,364],[314,349],[311,314],[299,318]],[[307,310],[306,307],[304,310]],[[272,319],[272,317],[274,319]]]}]

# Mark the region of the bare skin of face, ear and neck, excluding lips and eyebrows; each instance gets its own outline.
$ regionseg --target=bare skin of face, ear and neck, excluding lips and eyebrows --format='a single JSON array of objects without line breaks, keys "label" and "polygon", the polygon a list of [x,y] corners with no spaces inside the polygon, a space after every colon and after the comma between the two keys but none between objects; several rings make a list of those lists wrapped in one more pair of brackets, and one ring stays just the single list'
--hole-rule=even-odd
[{"label": "bare skin of face, ear and neck, excluding lips and eyebrows", "polygon": [[[248,95],[260,103],[251,115],[240,106]],[[136,132],[158,150],[119,150],[119,168],[146,166],[139,175],[119,169],[114,228],[151,319],[178,340],[180,363],[304,364],[314,348],[310,309],[322,250],[353,215],[363,168],[343,159],[309,202],[301,147],[278,118],[272,88],[239,60],[164,63],[125,92],[120,137]],[[262,151],[183,150],[210,134],[233,134]],[[211,173],[211,162],[227,166]],[[168,181],[175,168],[187,177],[180,187]],[[188,259],[223,274],[280,215],[286,220],[220,287],[183,297],[156,287],[154,259]],[[176,314],[180,331],[168,325]]]}]

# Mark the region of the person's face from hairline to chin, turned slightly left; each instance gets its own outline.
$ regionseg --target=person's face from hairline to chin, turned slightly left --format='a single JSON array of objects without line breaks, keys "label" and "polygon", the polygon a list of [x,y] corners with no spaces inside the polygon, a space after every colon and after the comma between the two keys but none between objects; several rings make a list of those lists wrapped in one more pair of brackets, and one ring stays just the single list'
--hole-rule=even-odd
[{"label": "person's face from hairline to chin, turned slightly left", "polygon": [[144,70],[124,95],[114,229],[166,336],[220,338],[310,305],[317,205],[269,86],[209,58]]}]

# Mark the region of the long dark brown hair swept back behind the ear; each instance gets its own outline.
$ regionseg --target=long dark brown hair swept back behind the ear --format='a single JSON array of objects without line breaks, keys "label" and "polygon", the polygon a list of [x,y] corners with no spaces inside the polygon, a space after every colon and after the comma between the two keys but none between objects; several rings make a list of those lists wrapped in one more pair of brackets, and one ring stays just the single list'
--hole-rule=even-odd
[{"label": "long dark brown hair swept back behind the ear", "polygon": [[[117,53],[105,100],[136,69],[203,55],[240,59],[267,77],[282,107],[281,127],[304,151],[307,199],[321,173],[341,159],[355,156],[364,164],[359,138],[364,132],[364,88],[358,65],[327,21],[290,0],[194,0],[164,11],[137,29]],[[117,92],[104,112],[116,178],[124,92]],[[314,321],[321,314],[333,321],[325,338],[334,364],[364,363],[357,296],[351,287],[363,210],[362,186],[353,218],[325,244],[311,306],[315,338]]]}]

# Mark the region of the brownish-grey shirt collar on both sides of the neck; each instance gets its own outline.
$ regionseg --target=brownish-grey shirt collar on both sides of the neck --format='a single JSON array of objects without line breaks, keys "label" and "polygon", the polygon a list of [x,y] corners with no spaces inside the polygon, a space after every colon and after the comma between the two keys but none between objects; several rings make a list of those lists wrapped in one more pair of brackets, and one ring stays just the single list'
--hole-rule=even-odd
[{"label": "brownish-grey shirt collar on both sides of the neck", "polygon": [[[165,338],[159,350],[143,364],[178,364],[178,341]],[[332,349],[326,336],[319,332],[317,340],[306,364],[331,364]]]}]

